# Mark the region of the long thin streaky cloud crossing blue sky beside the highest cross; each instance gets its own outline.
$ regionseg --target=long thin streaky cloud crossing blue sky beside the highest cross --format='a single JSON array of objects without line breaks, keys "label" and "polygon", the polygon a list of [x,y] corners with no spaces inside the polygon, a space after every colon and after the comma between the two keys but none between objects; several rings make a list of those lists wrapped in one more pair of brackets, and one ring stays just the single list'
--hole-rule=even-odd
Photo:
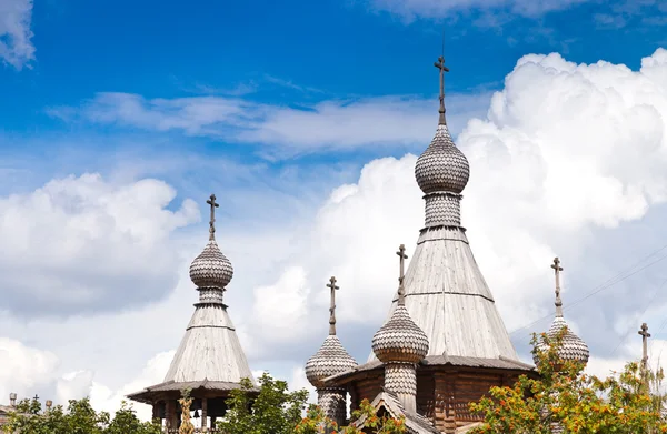
[{"label": "long thin streaky cloud crossing blue sky beside the highest cross", "polygon": [[[490,94],[447,97],[449,122],[459,131],[482,115]],[[369,144],[414,144],[428,140],[436,98],[381,97],[325,100],[312,107],[260,104],[225,97],[146,100],[129,93],[99,93],[81,108],[53,108],[51,115],[137,128],[182,131],[241,143],[261,143],[280,155],[321,150],[348,150]]]}]

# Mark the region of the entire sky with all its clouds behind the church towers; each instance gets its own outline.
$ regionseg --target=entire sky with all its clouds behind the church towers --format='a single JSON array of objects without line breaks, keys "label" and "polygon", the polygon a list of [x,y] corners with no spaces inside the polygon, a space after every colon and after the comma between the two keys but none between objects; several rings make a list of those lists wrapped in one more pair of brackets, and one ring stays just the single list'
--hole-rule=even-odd
[{"label": "entire sky with all its clouds behind the church towers", "polygon": [[625,276],[566,309],[598,370],[619,342],[634,354],[639,319],[664,339],[667,274],[640,260],[667,236],[663,0],[0,0],[2,13],[0,350],[48,363],[39,381],[0,375],[1,393],[80,391],[73,375],[108,407],[159,382],[211,192],[252,369],[303,385],[331,274],[364,361],[395,291],[384,252],[422,224],[412,169],[435,132],[444,30],[448,122],[472,173],[462,219],[507,327],[531,324],[512,335],[521,356],[522,332],[548,325],[556,254],[566,307]]}]

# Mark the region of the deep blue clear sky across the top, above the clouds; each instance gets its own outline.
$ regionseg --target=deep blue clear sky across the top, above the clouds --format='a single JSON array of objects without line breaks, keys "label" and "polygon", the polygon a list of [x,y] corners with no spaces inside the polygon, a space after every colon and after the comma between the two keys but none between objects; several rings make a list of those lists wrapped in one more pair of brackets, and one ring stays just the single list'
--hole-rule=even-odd
[{"label": "deep blue clear sky across the top, above the clouds", "polygon": [[[381,2],[364,1],[37,1],[36,60],[20,71],[0,70],[2,129],[29,138],[89,132],[47,109],[78,105],[97,92],[246,93],[295,108],[327,99],[429,98],[437,92],[430,63],[442,29],[452,70],[447,89],[456,93],[499,89],[526,53],[558,51],[574,62],[605,59],[636,69],[663,42],[664,28],[647,22],[657,4],[638,12],[629,7],[636,2],[575,3],[529,17],[510,6],[460,8],[408,23],[378,10]],[[625,18],[607,24],[601,16]]]}]

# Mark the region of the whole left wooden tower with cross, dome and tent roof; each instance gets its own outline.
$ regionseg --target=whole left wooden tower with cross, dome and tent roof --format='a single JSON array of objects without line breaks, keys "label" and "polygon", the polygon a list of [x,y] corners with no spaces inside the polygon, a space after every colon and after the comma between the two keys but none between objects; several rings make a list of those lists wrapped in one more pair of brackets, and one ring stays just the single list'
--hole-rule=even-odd
[{"label": "whole left wooden tower with cross, dome and tent roof", "polygon": [[[255,380],[236,329],[222,301],[233,270],[216,242],[216,195],[207,203],[211,208],[209,241],[190,265],[190,280],[199,291],[199,302],[186,329],[186,334],[160,384],[128,395],[130,400],[152,405],[153,418],[166,421],[168,432],[180,426],[181,391],[190,388],[191,405],[202,417],[202,428],[215,427],[216,418],[226,413],[225,401],[230,391],[240,388],[242,379]],[[201,413],[201,414],[199,414]]]}]

